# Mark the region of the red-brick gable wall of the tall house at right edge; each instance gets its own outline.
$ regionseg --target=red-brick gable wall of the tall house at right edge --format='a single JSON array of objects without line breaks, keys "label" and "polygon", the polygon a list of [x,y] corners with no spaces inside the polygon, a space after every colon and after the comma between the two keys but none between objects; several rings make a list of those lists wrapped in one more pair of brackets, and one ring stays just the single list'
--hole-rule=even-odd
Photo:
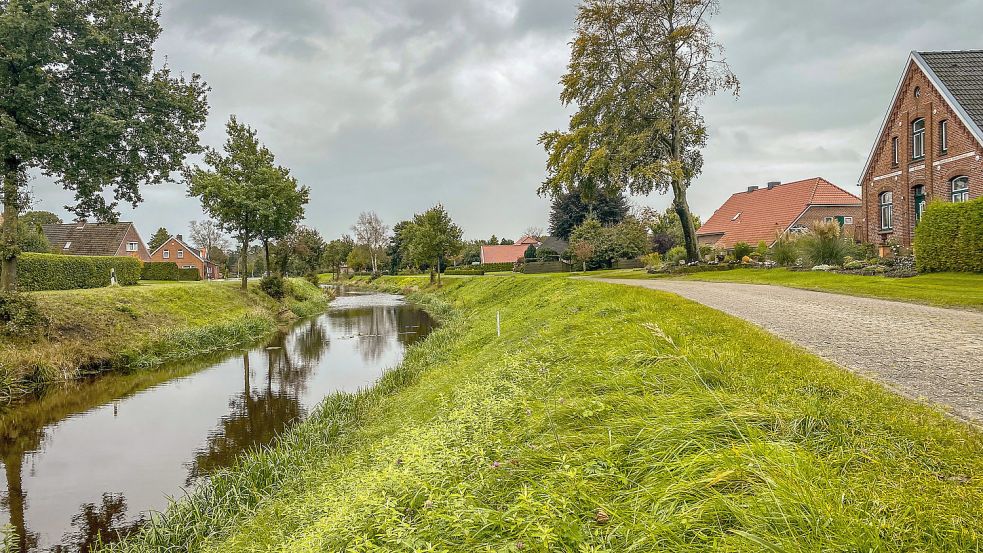
[{"label": "red-brick gable wall of the tall house at right edge", "polygon": [[[915,97],[915,87],[921,91]],[[912,159],[911,124],[925,119],[925,157]],[[948,121],[948,150],[940,152],[939,122]],[[892,138],[898,137],[898,164],[892,159]],[[925,186],[926,200],[950,201],[951,181],[969,177],[969,196],[983,196],[983,148],[962,124],[942,94],[928,77],[912,63],[904,77],[896,104],[891,107],[883,134],[875,145],[871,166],[861,179],[863,221],[861,240],[885,243],[895,239],[911,247],[914,238],[915,203],[913,189]],[[893,193],[894,213],[891,229],[881,229],[880,194]]]}]

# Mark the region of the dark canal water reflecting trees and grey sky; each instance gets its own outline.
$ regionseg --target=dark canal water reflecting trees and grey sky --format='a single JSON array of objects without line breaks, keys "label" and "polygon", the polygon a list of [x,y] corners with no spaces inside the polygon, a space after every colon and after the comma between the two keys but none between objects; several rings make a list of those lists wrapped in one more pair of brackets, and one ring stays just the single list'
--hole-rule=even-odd
[{"label": "dark canal water reflecting trees and grey sky", "polygon": [[343,294],[248,351],[49,390],[0,413],[0,524],[25,552],[132,532],[325,395],[375,382],[432,327],[399,296]]}]

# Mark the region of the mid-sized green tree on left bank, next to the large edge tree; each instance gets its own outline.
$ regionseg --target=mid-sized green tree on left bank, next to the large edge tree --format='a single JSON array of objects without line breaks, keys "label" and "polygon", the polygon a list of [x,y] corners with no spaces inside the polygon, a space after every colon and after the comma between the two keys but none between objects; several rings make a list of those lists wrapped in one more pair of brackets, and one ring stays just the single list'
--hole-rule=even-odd
[{"label": "mid-sized green tree on left bank, next to the large edge tree", "polygon": [[200,198],[205,212],[239,243],[240,278],[245,290],[249,243],[270,232],[271,198],[296,190],[296,181],[287,169],[274,165],[273,153],[260,144],[255,130],[233,116],[226,132],[225,154],[209,148],[204,161],[211,169],[189,168],[185,180],[188,195]]}]

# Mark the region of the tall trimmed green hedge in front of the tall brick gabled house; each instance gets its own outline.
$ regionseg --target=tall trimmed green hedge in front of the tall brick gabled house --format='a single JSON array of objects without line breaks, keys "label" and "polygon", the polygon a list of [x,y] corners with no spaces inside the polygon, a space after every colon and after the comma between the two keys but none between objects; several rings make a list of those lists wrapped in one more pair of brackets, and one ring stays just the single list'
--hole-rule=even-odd
[{"label": "tall trimmed green hedge in front of the tall brick gabled house", "polygon": [[915,263],[922,272],[983,273],[983,198],[930,203],[915,227]]}]

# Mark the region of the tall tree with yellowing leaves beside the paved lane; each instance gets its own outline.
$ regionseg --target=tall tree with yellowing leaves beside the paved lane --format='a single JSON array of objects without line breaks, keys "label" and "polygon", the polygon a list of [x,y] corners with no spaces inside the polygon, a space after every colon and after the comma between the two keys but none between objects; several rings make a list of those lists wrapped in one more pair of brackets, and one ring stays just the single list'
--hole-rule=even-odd
[{"label": "tall tree with yellowing leaves beside the paved lane", "polygon": [[671,191],[687,258],[699,259],[686,198],[707,141],[699,107],[739,90],[708,22],[718,10],[718,0],[581,4],[560,95],[577,113],[567,132],[540,136],[549,153],[541,192]]}]

